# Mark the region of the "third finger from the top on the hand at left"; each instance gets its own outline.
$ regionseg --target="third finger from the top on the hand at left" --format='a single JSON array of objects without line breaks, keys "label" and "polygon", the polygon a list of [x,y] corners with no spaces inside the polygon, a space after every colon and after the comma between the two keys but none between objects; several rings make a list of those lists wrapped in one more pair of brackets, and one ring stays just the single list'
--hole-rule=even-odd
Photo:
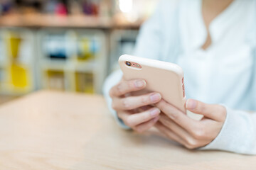
[{"label": "third finger from the top on the hand at left", "polygon": [[142,113],[134,113],[131,115],[128,115],[126,120],[124,122],[129,126],[129,127],[134,127],[139,124],[145,123],[152,118],[156,118],[159,116],[160,110],[159,108],[151,108],[148,111],[144,111]]}]

